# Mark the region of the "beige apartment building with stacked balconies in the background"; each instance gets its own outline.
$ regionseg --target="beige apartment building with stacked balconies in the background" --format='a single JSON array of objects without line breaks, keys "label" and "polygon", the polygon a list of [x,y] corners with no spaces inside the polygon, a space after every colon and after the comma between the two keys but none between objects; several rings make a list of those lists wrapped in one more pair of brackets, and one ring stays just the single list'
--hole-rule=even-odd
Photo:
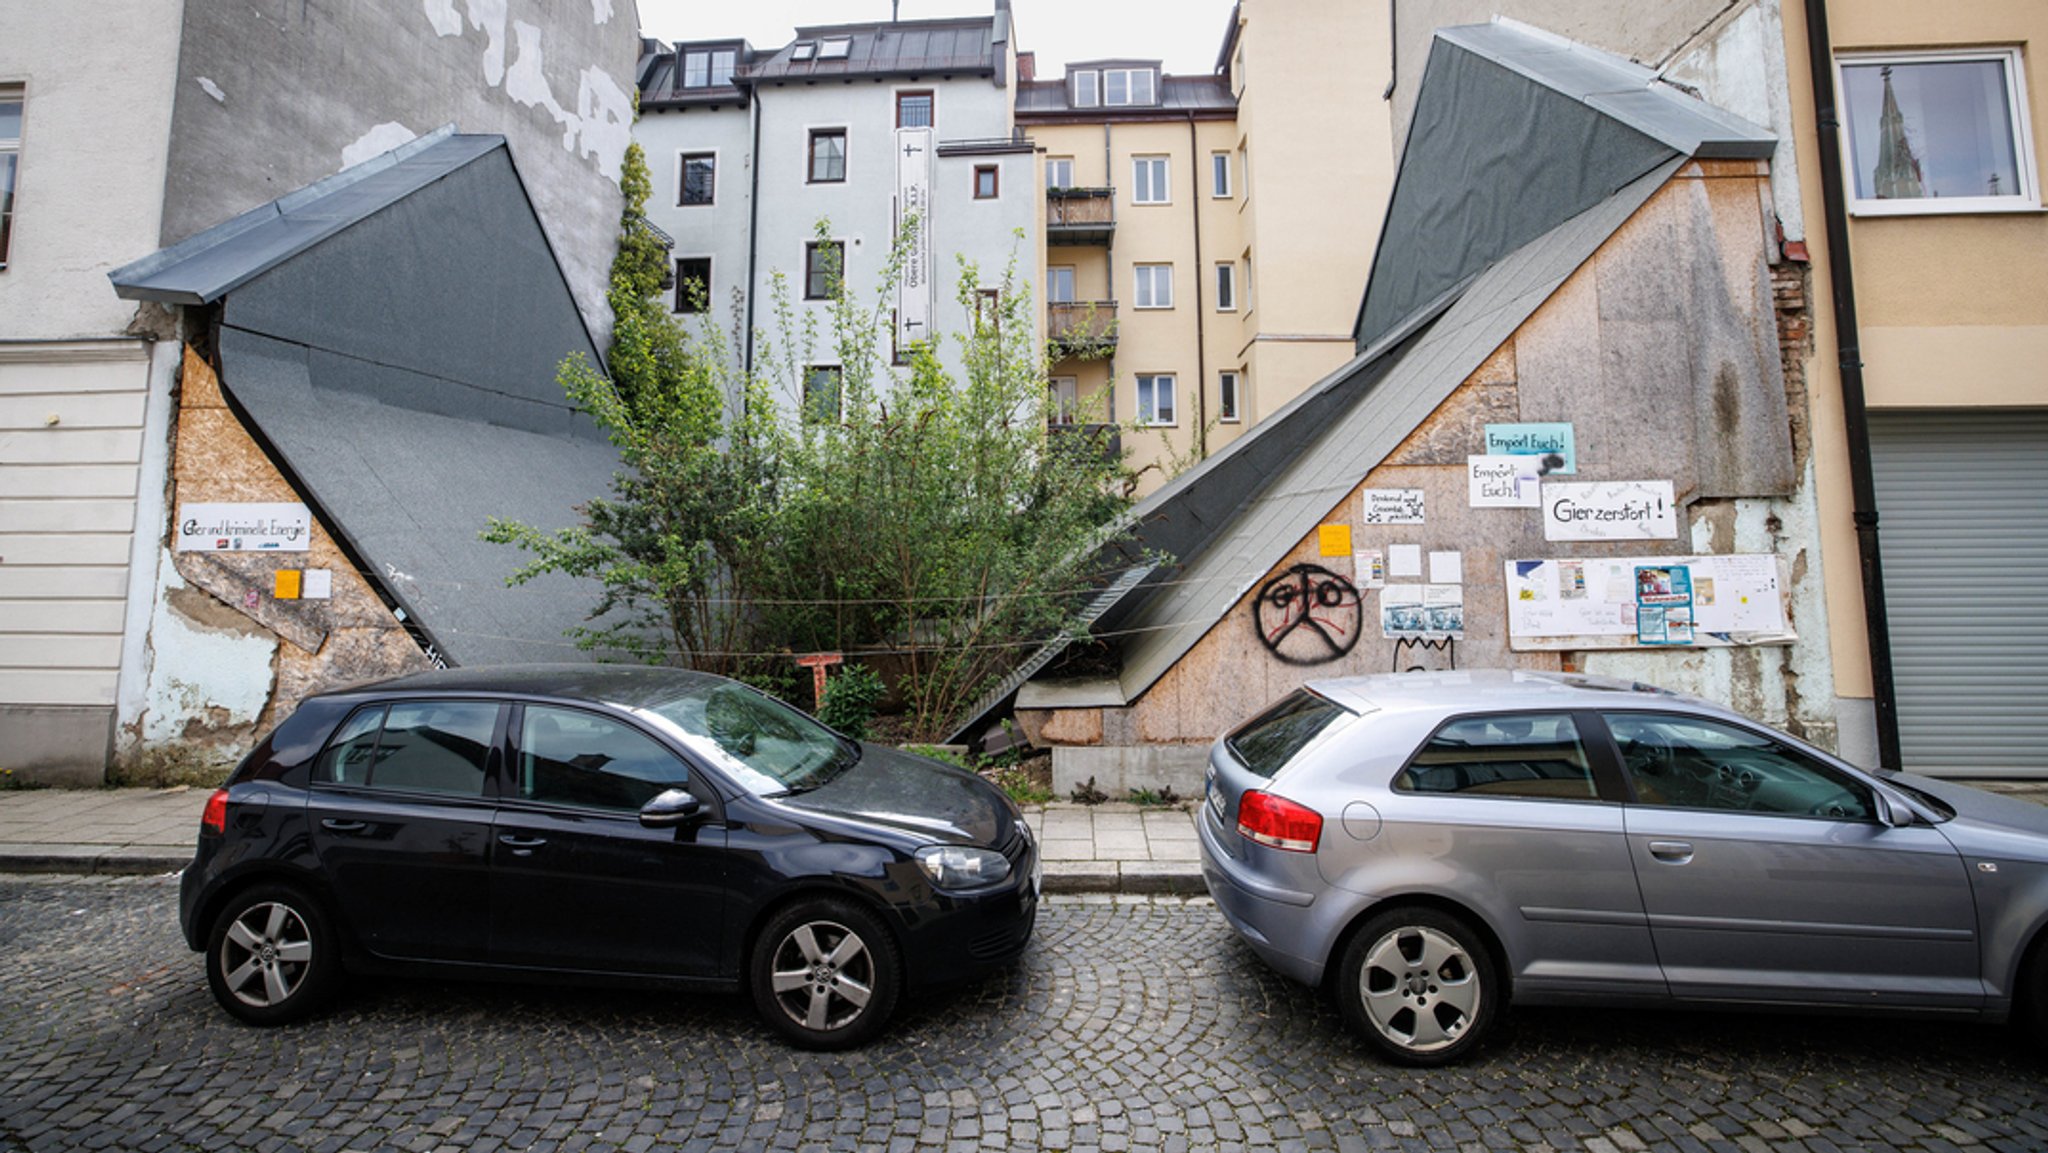
[{"label": "beige apartment building with stacked balconies in the background", "polygon": [[1393,186],[1391,59],[1384,4],[1243,0],[1212,74],[1094,59],[1018,86],[1055,410],[1135,422],[1139,492],[1352,356]]}]

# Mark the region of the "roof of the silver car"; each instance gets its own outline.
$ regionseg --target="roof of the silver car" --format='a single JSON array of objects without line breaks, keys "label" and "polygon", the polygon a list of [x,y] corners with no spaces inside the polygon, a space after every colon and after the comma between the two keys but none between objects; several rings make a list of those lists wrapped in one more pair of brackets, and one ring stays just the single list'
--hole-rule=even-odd
[{"label": "roof of the silver car", "polygon": [[1536,670],[1382,672],[1313,680],[1309,690],[1352,709],[1505,711],[1505,709],[1671,709],[1726,715],[1726,709],[1640,680]]}]

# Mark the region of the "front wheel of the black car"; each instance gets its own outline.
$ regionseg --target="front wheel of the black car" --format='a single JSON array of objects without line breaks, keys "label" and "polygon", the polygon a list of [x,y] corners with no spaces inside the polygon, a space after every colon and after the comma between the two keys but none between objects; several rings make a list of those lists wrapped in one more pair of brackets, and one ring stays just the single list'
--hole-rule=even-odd
[{"label": "front wheel of the black car", "polygon": [[903,960],[866,909],[829,897],[776,913],[754,950],[754,1003],[803,1049],[852,1049],[895,1012]]}]

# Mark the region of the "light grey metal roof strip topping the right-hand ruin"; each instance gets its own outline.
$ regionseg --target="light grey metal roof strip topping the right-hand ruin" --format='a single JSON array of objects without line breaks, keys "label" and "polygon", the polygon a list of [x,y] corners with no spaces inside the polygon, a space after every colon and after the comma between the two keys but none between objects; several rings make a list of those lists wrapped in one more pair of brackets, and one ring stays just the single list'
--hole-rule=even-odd
[{"label": "light grey metal roof strip topping the right-hand ruin", "polygon": [[1516,20],[1460,25],[1436,35],[1686,156],[1765,158],[1778,143],[1769,129],[1679,92],[1640,63]]}]

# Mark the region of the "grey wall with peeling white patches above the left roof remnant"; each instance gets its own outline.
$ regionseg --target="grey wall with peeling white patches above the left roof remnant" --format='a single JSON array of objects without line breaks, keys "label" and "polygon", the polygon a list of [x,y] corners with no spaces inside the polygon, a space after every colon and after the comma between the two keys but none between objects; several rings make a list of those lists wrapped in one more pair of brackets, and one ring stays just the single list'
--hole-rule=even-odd
[{"label": "grey wall with peeling white patches above the left roof remnant", "polygon": [[633,4],[188,0],[162,244],[453,121],[510,139],[602,348],[637,57]]}]

